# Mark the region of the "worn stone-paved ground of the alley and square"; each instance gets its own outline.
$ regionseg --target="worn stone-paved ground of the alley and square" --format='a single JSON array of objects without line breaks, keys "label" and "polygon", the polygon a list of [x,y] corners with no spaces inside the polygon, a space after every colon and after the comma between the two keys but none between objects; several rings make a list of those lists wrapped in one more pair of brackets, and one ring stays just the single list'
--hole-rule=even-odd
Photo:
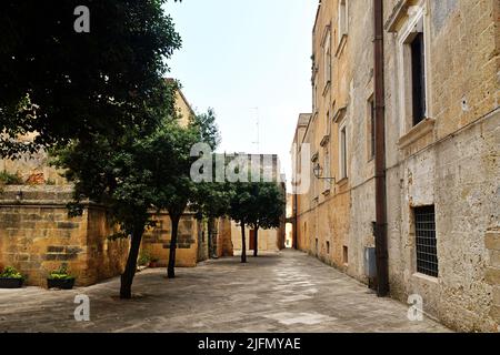
[{"label": "worn stone-paved ground of the alley and square", "polygon": [[[286,251],[242,265],[238,257],[139,273],[134,298],[119,278],[72,291],[0,290],[0,332],[448,332],[410,322],[408,306],[303,253]],[[90,297],[90,322],[76,322],[74,296]]]}]

